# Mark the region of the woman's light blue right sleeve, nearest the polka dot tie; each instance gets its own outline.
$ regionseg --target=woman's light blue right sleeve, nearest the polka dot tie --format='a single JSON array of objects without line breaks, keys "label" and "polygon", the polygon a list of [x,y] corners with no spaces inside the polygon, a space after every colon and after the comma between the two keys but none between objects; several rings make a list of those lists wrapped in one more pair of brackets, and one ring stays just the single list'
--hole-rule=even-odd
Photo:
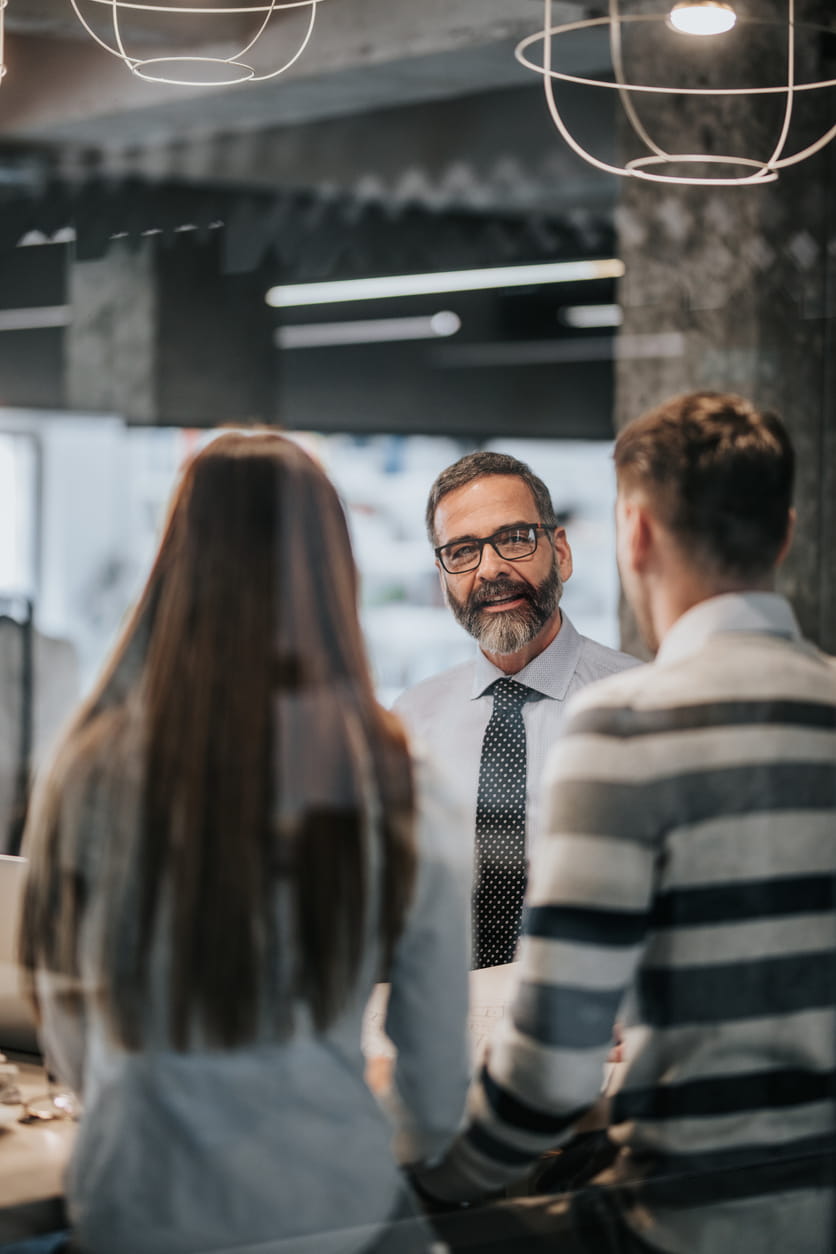
[{"label": "woman's light blue right sleeve, nearest the polka dot tie", "polygon": [[447,1147],[470,1080],[468,972],[471,840],[441,781],[416,770],[417,882],[391,969],[386,1032],[397,1048],[396,1152],[431,1159]]}]

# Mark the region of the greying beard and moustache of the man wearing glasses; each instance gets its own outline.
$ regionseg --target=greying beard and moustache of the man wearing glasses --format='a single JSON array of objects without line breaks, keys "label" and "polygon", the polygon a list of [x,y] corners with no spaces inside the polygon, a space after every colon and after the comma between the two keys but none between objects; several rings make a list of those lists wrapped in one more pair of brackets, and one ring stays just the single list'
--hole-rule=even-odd
[{"label": "greying beard and moustache of the man wearing glasses", "polygon": [[[513,593],[525,597],[525,604],[493,613],[486,613],[481,608],[485,598]],[[484,583],[479,593],[473,593],[468,601],[459,601],[449,588],[446,596],[456,622],[479,641],[485,653],[518,653],[531,643],[556,611],[563,596],[563,582],[555,561],[549,574],[536,587],[516,579],[500,578],[493,583]]]}]

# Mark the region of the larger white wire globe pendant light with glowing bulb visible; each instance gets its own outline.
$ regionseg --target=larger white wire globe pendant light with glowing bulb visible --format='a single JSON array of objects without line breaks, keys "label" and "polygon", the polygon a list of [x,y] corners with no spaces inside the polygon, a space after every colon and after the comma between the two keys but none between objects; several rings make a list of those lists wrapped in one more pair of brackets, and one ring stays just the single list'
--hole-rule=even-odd
[{"label": "larger white wire globe pendant light with glowing bulb visible", "polygon": [[[545,99],[554,125],[572,150],[597,169],[609,174],[656,183],[686,183],[712,187],[773,183],[782,169],[795,166],[807,157],[812,157],[813,153],[817,153],[836,137],[836,124],[833,124],[813,143],[807,144],[807,147],[798,152],[787,153],[786,150],[796,97],[800,93],[832,90],[836,87],[836,79],[816,82],[797,82],[796,79],[796,33],[800,30],[806,33],[811,30],[821,31],[828,28],[813,26],[808,23],[797,24],[795,0],[787,0],[786,80],[776,85],[748,88],[632,83],[625,74],[624,30],[630,29],[637,23],[656,23],[657,25],[664,24],[671,30],[679,31],[679,38],[713,35],[722,39],[723,33],[734,26],[739,30],[741,26],[747,24],[782,28],[783,23],[776,19],[737,16],[732,4],[727,4],[724,0],[692,0],[692,3],[679,0],[667,13],[640,13],[632,15],[622,13],[619,0],[609,0],[608,16],[554,24],[551,20],[553,0],[544,0],[544,5],[545,20],[543,30],[521,40],[516,48],[516,59],[528,66],[528,69],[535,70],[543,76]],[[569,74],[555,68],[555,45],[565,41],[564,36],[594,28],[603,28],[608,31],[613,79],[597,79],[583,74]],[[541,56],[533,59],[533,55],[535,55],[534,49],[538,45],[541,45]],[[558,102],[558,85],[562,83],[574,83],[583,87],[617,92],[629,128],[643,152],[638,157],[625,161],[622,166],[602,161],[589,152],[573,134],[562,110],[562,104]],[[687,97],[696,102],[699,102],[701,98],[714,102],[719,98],[751,98],[753,107],[763,97],[772,97],[778,100],[783,97],[782,118],[776,128],[772,152],[763,158],[751,154],[734,155],[716,152],[672,152],[657,142],[640,117],[643,102],[647,103],[652,98],[658,100],[662,97]],[[689,168],[693,168],[694,173],[691,173]],[[701,168],[702,172],[696,173],[697,168]],[[704,173],[706,169],[711,171],[711,173]]]}]

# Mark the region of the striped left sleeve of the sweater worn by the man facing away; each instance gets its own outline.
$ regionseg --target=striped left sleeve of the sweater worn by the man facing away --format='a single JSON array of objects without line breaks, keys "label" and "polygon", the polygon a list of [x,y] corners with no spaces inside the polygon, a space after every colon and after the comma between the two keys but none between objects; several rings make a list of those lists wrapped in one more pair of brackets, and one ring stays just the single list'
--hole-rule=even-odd
[{"label": "striped left sleeve of the sweater worn by the man facing away", "polygon": [[461,1134],[417,1174],[440,1199],[473,1200],[524,1174],[600,1095],[653,899],[652,789],[634,771],[618,711],[570,717],[545,772],[511,1016],[473,1083]]}]

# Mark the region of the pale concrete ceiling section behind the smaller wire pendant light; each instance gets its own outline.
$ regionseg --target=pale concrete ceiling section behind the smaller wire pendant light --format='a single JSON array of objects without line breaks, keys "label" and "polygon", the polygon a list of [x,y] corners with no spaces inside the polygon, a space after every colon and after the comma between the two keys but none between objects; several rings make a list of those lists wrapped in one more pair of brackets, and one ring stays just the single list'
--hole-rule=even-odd
[{"label": "pale concrete ceiling section behind the smaller wire pendant light", "polygon": [[[108,13],[100,0],[79,4],[86,14]],[[567,19],[583,13],[577,3],[556,9]],[[229,31],[226,18],[222,26],[221,19],[180,16],[172,31],[170,19],[132,10],[125,15],[125,46],[135,55],[157,56],[169,49],[177,55],[228,56],[253,20],[249,15],[242,30],[242,19],[234,18]],[[305,23],[306,10],[271,18],[252,53],[259,70],[286,60]],[[127,73],[84,34],[69,0],[10,0],[0,134],[114,145],[520,85],[528,75],[515,63],[513,46],[539,24],[535,0],[322,0],[311,44],[287,75],[234,89],[184,89]],[[102,18],[98,29],[107,33]],[[207,38],[189,41],[196,29]],[[221,38],[221,31],[232,38]],[[588,59],[580,46],[578,55]]]}]

